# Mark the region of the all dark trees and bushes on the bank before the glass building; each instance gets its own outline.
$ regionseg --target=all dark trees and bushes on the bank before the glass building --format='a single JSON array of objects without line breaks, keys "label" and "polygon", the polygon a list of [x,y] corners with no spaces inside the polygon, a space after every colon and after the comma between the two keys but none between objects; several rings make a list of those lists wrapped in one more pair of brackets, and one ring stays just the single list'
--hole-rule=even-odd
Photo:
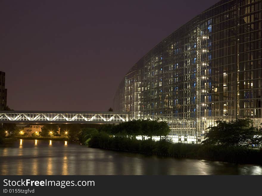
[{"label": "all dark trees and bushes on the bank before the glass building", "polygon": [[[197,158],[235,163],[262,164],[261,130],[252,127],[248,119],[234,122],[216,121],[208,127],[202,145],[172,143],[167,137],[166,122],[138,120],[107,125],[97,129],[84,129],[81,142],[93,148],[103,148],[176,158]],[[135,136],[149,137],[137,140]],[[152,139],[160,136],[159,141]],[[251,148],[257,147],[257,148]]]}]

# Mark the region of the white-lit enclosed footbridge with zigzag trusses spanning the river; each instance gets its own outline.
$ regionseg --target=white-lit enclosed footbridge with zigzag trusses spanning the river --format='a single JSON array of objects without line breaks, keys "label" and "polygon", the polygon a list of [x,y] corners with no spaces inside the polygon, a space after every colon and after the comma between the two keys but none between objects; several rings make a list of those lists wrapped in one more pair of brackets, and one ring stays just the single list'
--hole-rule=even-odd
[{"label": "white-lit enclosed footbridge with zigzag trusses spanning the river", "polygon": [[119,124],[129,112],[0,111],[0,123]]}]

